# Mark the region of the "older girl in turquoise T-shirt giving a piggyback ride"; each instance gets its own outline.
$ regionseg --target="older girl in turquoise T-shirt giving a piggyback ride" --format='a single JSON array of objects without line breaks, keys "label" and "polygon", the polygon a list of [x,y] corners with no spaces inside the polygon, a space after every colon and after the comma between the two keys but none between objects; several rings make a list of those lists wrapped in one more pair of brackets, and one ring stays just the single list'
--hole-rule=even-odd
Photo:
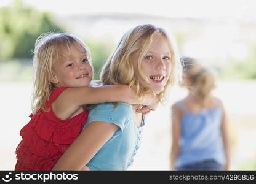
[{"label": "older girl in turquoise T-shirt giving a piggyback ride", "polygon": [[[151,93],[161,102],[180,75],[180,58],[166,31],[138,25],[122,36],[101,74],[104,85],[129,85],[138,98]],[[137,105],[100,104],[54,170],[126,170],[140,147],[145,118]],[[161,126],[156,122],[155,126]]]}]

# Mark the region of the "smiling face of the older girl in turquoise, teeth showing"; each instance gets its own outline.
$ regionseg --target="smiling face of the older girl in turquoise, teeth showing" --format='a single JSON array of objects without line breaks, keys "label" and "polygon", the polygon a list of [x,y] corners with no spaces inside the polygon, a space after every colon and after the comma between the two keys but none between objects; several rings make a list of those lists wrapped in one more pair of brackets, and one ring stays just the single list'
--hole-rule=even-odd
[{"label": "smiling face of the older girl in turquoise, teeth showing", "polygon": [[[138,62],[138,56],[135,56],[134,62]],[[160,93],[170,77],[171,72],[171,54],[170,48],[163,36],[153,36],[153,42],[150,44],[148,52],[142,59],[142,73],[150,83],[142,79],[138,71],[135,77],[143,86],[151,88],[154,92]]]}]

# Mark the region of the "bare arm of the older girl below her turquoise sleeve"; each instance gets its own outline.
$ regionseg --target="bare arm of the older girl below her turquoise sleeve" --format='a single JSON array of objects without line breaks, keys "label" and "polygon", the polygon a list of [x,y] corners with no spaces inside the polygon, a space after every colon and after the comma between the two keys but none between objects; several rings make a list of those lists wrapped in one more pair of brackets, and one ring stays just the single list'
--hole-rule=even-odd
[{"label": "bare arm of the older girl below her turquoise sleeve", "polygon": [[84,166],[117,130],[118,126],[113,123],[102,121],[90,123],[65,151],[52,170],[88,170],[89,168]]}]

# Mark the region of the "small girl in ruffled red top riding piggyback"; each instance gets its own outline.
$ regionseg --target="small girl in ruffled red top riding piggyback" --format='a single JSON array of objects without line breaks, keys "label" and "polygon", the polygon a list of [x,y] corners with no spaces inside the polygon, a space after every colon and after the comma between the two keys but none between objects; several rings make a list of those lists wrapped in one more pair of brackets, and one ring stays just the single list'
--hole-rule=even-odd
[{"label": "small girl in ruffled red top riding piggyback", "polygon": [[135,99],[127,85],[89,87],[93,77],[90,50],[71,34],[39,36],[33,62],[33,113],[20,131],[23,139],[16,149],[15,170],[51,170],[87,121],[83,104],[158,104],[158,98],[150,94]]}]

